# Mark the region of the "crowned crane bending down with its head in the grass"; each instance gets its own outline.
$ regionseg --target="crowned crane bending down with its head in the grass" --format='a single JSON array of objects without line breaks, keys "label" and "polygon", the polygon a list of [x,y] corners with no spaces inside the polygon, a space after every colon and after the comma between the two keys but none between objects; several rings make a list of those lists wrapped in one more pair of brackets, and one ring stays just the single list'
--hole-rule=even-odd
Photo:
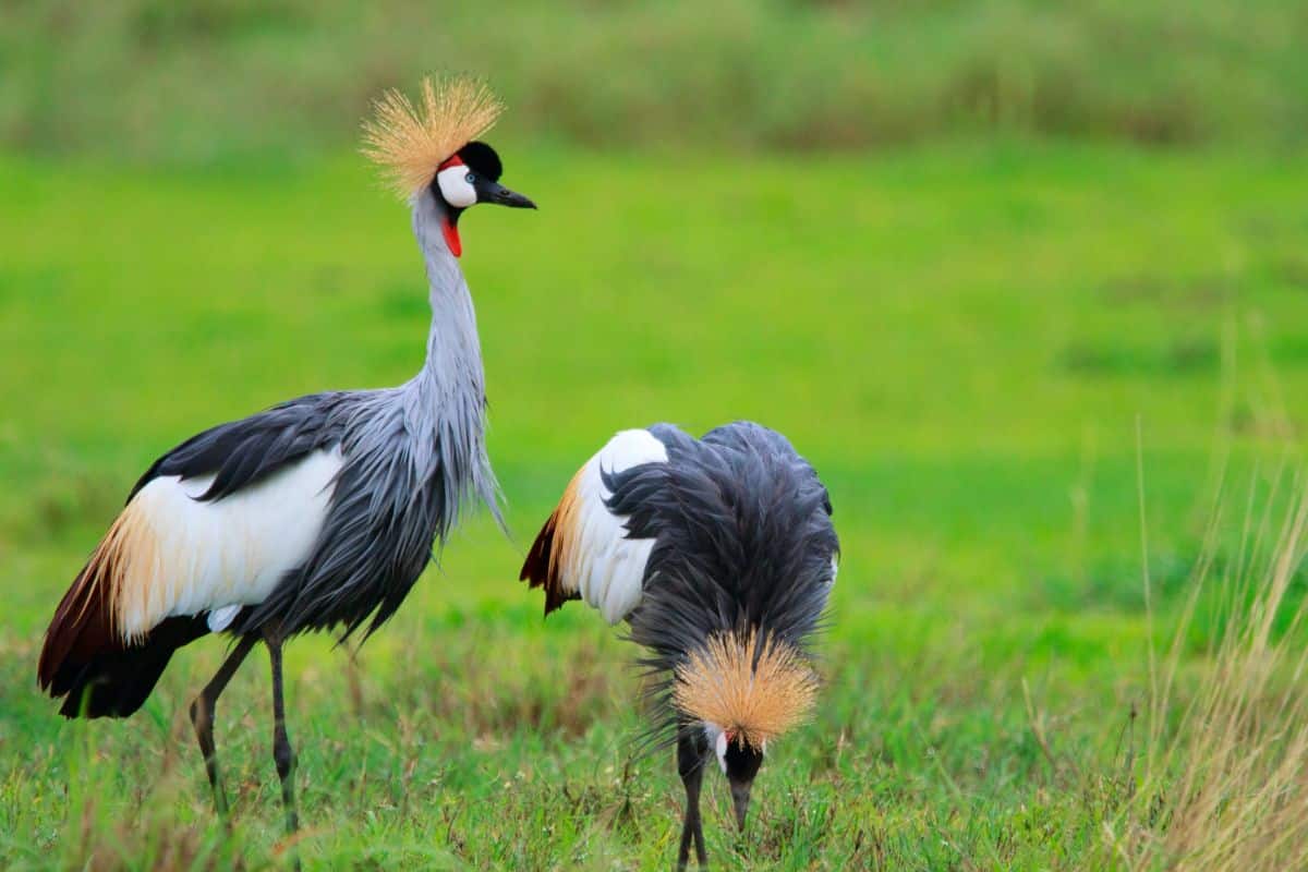
[{"label": "crowned crane bending down with its head in the grass", "polygon": [[[768,743],[818,693],[810,645],[836,582],[840,543],[818,473],[783,435],[738,421],[695,439],[624,430],[577,472],[527,553],[521,579],[545,614],[583,599],[627,620],[654,677],[650,737],[676,743],[685,787],[678,868],[695,843],[702,766],[717,758],[744,829]],[[659,741],[661,740],[661,741]]]}]

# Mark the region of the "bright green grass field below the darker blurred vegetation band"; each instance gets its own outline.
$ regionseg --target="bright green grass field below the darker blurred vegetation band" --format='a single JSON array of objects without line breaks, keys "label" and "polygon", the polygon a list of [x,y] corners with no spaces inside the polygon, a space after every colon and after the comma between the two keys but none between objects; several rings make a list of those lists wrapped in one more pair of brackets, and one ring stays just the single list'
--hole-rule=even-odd
[{"label": "bright green grass field below the darker blurred vegetation band", "polygon": [[[463,224],[514,535],[467,524],[361,651],[290,647],[306,864],[671,864],[680,786],[670,756],[630,758],[633,652],[581,608],[543,622],[514,579],[613,430],[749,417],[828,482],[844,560],[829,685],[769,753],[746,837],[709,784],[717,867],[1129,867],[1105,822],[1150,703],[1138,490],[1163,643],[1219,473],[1239,509],[1220,562],[1240,494],[1261,503],[1296,456],[1304,163],[1022,141],[734,161],[498,145],[505,182],[542,204]],[[405,210],[348,154],[184,173],[9,157],[0,188],[0,865],[276,865],[266,660],[218,710],[229,838],[186,716],[220,641],[112,723],[58,718],[35,656],[154,456],[419,366]],[[1180,698],[1220,630],[1203,609]]]}]

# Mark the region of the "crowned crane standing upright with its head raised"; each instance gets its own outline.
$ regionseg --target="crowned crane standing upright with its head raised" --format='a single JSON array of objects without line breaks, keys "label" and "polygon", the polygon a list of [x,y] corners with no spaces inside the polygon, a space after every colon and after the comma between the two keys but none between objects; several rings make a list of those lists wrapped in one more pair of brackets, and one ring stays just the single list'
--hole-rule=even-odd
[{"label": "crowned crane standing upright with its head raised", "polygon": [[[535,208],[501,186],[477,141],[501,103],[470,80],[422,84],[421,107],[391,92],[365,126],[365,153],[412,208],[426,264],[426,362],[399,387],[289,400],[173,448],[127,505],[55,611],[38,679],[68,718],[126,718],[173,652],[209,633],[234,639],[191,705],[215,804],[218,696],[260,639],[272,665],[273,757],[297,829],[281,651],[336,629],[366,638],[404,601],[460,510],[500,519],[487,458],[476,316],[459,271],[458,221],[477,203]],[[501,522],[502,523],[502,522]]]}]

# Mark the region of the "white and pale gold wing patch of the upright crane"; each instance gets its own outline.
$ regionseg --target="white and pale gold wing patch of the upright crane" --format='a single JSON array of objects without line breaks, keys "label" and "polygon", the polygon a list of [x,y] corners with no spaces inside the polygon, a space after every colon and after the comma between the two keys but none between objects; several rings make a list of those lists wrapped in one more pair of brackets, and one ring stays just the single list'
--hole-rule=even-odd
[{"label": "white and pale gold wing patch of the upright crane", "polygon": [[211,629],[222,629],[239,605],[266,599],[309,557],[340,468],[339,450],[318,450],[212,501],[201,497],[213,473],[150,478],[82,570],[84,608],[107,608],[110,631],[122,642],[181,614],[211,612]]}]

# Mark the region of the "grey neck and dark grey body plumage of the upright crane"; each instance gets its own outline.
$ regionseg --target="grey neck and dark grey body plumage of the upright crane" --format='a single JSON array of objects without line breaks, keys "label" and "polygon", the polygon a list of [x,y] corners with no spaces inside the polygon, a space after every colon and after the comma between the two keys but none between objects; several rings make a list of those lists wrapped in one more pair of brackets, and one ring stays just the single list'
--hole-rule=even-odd
[{"label": "grey neck and dark grey body plumage of the upright crane", "polygon": [[[313,451],[339,450],[343,467],[311,556],[230,631],[276,622],[284,634],[385,622],[472,498],[498,511],[485,452],[485,378],[476,315],[424,190],[413,233],[430,286],[432,328],[422,370],[399,387],[314,394],[207,430],[161,458],[136,485],[164,475],[216,475],[201,499],[222,499]],[[135,490],[133,490],[135,494]]]}]

